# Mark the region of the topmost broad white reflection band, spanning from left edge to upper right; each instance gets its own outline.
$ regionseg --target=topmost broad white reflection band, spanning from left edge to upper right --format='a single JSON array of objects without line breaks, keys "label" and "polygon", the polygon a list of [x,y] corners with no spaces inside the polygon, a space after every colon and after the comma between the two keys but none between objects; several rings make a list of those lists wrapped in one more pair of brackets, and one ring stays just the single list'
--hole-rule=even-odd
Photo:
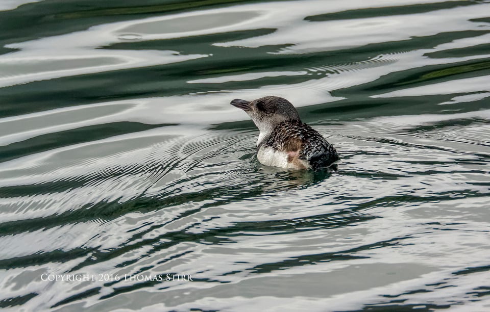
[{"label": "topmost broad white reflection band, spanning from left edge to upper right", "polygon": [[[384,0],[370,2],[367,7],[383,7],[390,3]],[[397,2],[397,5],[416,3],[426,3],[426,1],[403,1]],[[397,25],[403,29],[399,31],[394,25],[387,27],[382,19],[379,22],[376,22],[376,19],[369,19],[369,25],[352,24],[359,23],[358,19],[328,22],[303,21],[305,16],[316,15],[318,12],[339,12],[364,6],[365,4],[359,1],[325,2],[318,0],[287,2],[287,6],[282,3],[241,5],[206,10],[205,14],[202,11],[189,12],[109,23],[91,27],[86,31],[13,43],[7,47],[21,50],[0,56],[0,87],[73,74],[168,64],[206,56],[180,56],[174,55],[175,51],[149,50],[111,50],[109,54],[107,51],[94,49],[125,42],[128,40],[125,37],[127,33],[130,33],[133,39],[156,40],[257,29],[257,25],[260,24],[261,28],[277,28],[277,31],[261,37],[216,43],[216,45],[256,47],[271,44],[294,44],[287,49],[296,53],[297,51],[311,51],[312,45],[315,50],[326,50],[340,46],[358,46],[408,39],[410,34],[415,33],[430,35],[439,31],[481,30],[481,27],[488,27],[484,23],[467,20],[460,22],[461,11],[468,19],[486,16],[484,10],[476,5],[469,8],[444,10],[435,16],[429,13],[420,14],[420,17],[419,15],[400,16],[397,18],[397,20],[400,19]],[[389,18],[393,20],[393,17]],[[414,18],[416,21],[413,20]],[[188,20],[192,20],[192,23],[188,23]],[[325,24],[325,32],[318,31],[322,29],[322,24]],[[406,29],[406,27],[411,28]],[[355,28],[355,32],[352,28]],[[388,31],[385,31],[386,29]],[[350,34],[356,36],[355,40]],[[12,73],[11,68],[20,68],[20,72],[15,70],[15,73]]]}]

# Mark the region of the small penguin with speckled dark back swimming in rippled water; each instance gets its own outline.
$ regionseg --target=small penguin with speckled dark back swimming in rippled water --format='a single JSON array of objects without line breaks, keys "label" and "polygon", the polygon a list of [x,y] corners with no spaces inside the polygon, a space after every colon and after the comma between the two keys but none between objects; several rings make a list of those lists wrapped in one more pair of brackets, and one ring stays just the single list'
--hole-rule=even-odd
[{"label": "small penguin with speckled dark back swimming in rippled water", "polygon": [[259,128],[257,159],[261,164],[316,171],[339,160],[335,148],[301,121],[287,99],[265,96],[253,101],[234,99],[230,104],[249,114]]}]

